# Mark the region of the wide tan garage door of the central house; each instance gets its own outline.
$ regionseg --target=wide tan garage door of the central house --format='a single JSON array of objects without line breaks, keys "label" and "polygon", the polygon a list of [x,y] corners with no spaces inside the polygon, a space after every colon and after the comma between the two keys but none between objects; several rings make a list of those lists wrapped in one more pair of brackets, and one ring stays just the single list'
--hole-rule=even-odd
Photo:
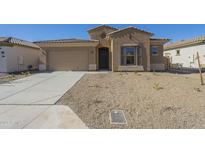
[{"label": "wide tan garage door of the central house", "polygon": [[88,50],[67,49],[48,52],[49,70],[88,70]]}]

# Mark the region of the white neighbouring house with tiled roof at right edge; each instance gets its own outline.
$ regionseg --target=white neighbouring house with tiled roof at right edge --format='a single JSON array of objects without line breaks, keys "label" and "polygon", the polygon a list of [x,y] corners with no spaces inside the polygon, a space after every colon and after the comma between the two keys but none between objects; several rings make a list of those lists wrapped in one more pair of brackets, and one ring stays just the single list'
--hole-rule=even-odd
[{"label": "white neighbouring house with tiled roof at right edge", "polygon": [[205,68],[205,36],[164,46],[164,56],[169,59],[172,67],[198,68],[197,52],[201,66]]}]

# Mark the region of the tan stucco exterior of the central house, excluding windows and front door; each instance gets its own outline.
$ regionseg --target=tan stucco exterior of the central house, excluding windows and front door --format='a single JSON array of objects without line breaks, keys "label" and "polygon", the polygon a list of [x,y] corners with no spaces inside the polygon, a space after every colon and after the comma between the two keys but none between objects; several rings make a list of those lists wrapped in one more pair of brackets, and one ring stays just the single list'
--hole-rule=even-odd
[{"label": "tan stucco exterior of the central house, excluding windows and front door", "polygon": [[[126,71],[126,68],[132,71],[150,71],[152,65],[156,64],[158,67],[159,64],[163,64],[163,43],[151,41],[150,33],[128,29],[102,38],[103,33],[113,31],[107,27],[89,31],[92,43],[40,43],[38,45],[47,52],[48,68],[54,70],[96,70],[99,66],[99,48],[101,47],[109,49],[109,68],[112,71],[122,69]],[[99,42],[94,40],[99,40]],[[140,46],[142,66],[121,66],[121,47],[127,44]],[[151,55],[150,45],[160,46],[158,56]]]}]

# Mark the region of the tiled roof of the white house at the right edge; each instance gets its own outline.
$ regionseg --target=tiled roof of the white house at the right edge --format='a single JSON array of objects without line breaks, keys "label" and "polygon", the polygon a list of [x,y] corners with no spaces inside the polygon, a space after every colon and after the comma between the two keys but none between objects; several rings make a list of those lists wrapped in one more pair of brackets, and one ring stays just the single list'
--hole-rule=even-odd
[{"label": "tiled roof of the white house at the right edge", "polygon": [[205,36],[195,37],[189,40],[182,40],[174,43],[169,43],[164,46],[164,50],[171,50],[198,44],[205,44]]}]

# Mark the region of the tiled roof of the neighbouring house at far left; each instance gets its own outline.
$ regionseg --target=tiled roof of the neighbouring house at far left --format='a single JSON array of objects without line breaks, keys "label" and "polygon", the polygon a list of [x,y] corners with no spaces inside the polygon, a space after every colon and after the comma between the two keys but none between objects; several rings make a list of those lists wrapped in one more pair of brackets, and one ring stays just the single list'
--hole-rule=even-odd
[{"label": "tiled roof of the neighbouring house at far left", "polygon": [[0,44],[20,45],[20,46],[40,49],[39,46],[37,46],[32,42],[21,40],[14,37],[0,37]]}]

